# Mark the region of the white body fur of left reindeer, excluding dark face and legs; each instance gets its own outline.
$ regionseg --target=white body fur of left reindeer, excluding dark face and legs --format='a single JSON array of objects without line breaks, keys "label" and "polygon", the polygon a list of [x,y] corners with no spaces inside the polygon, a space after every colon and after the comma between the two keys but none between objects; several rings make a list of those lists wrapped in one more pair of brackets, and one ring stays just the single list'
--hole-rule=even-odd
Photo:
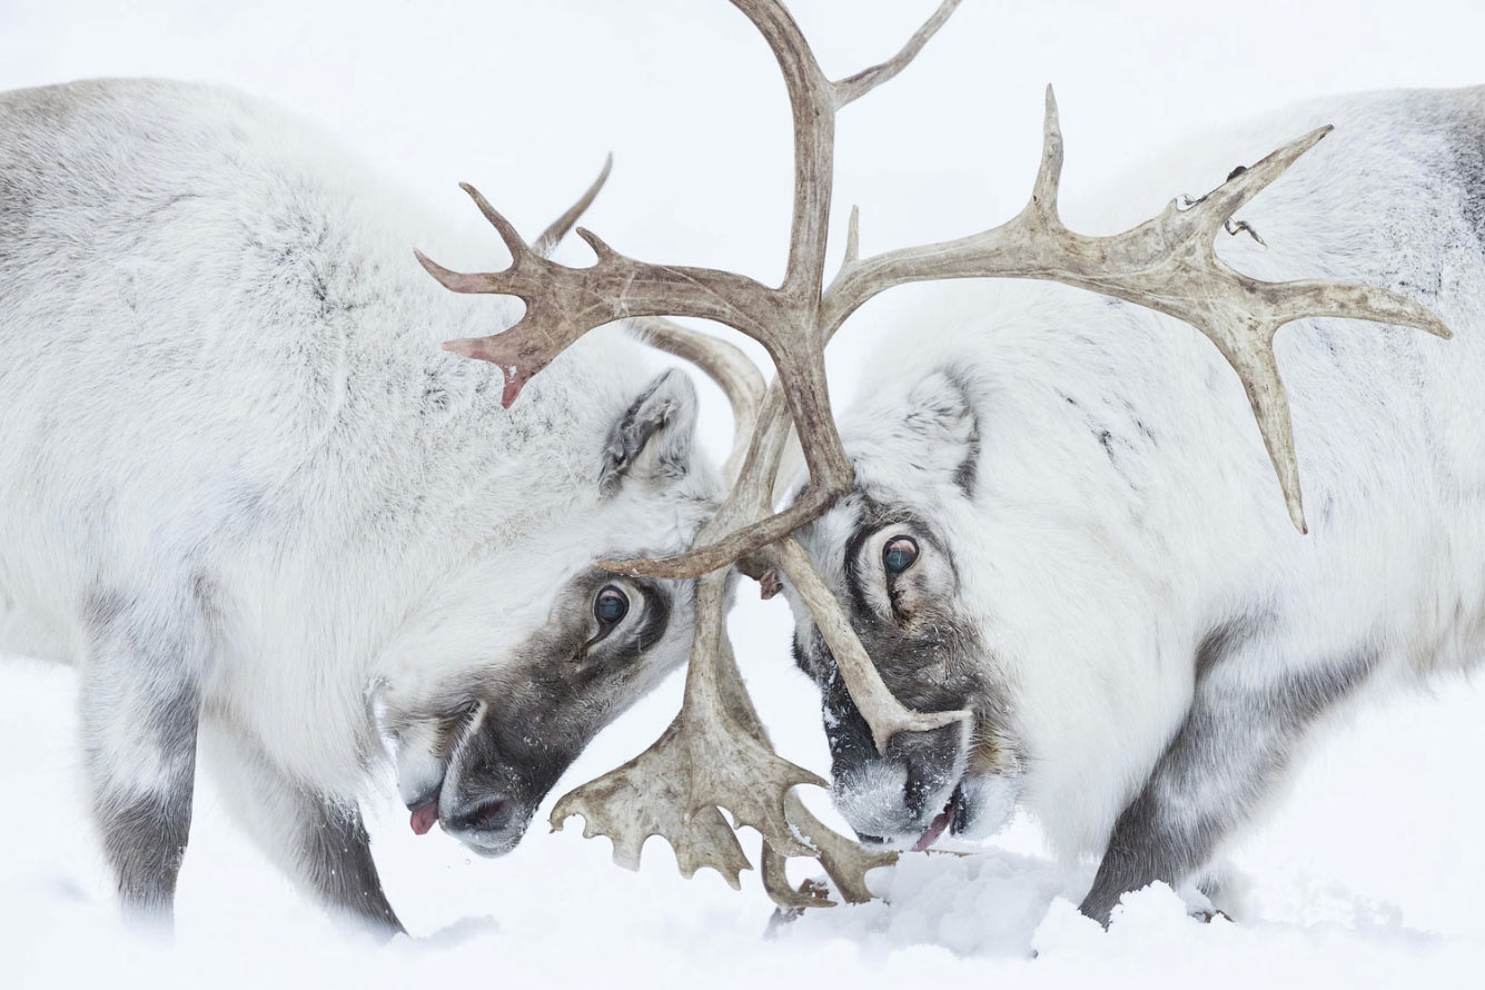
[{"label": "white body fur of left reindeer, excluding dark face and legs", "polygon": [[499,267],[495,235],[429,226],[300,120],[97,82],[0,95],[0,650],[89,666],[98,595],[162,628],[198,616],[208,720],[353,800],[374,704],[499,671],[564,580],[683,549],[716,496],[705,468],[600,496],[653,374],[618,331],[502,410],[499,371],[440,343],[512,307],[413,258]]}]

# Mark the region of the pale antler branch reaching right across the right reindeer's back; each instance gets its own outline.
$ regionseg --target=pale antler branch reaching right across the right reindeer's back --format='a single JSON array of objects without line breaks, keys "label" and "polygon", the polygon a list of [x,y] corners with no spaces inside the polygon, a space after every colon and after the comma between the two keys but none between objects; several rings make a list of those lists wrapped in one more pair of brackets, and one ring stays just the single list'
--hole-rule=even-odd
[{"label": "pale antler branch reaching right across the right reindeer's back", "polygon": [[[1237,373],[1253,419],[1268,447],[1289,518],[1307,531],[1299,493],[1289,402],[1274,362],[1280,327],[1305,316],[1369,319],[1449,337],[1427,307],[1390,289],[1341,282],[1264,282],[1240,275],[1216,255],[1216,236],[1258,193],[1331,132],[1319,128],[1256,165],[1237,169],[1194,203],[1172,200],[1161,214],[1132,230],[1090,237],[1068,230],[1057,214],[1062,177],[1062,128],[1047,86],[1042,156],[1031,202],[1011,221],[947,240],[846,258],[826,289],[821,322],[827,337],[873,295],[927,279],[1047,279],[1117,295],[1167,313],[1201,331]],[[854,229],[852,223],[852,229]]]}]

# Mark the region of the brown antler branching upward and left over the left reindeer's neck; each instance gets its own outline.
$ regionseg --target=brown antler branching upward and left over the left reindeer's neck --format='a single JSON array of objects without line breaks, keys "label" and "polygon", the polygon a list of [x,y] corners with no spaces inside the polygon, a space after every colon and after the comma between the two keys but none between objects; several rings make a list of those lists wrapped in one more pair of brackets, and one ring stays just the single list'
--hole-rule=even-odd
[{"label": "brown antler branching upward and left over the left reindeer's neck", "polygon": [[471,186],[463,190],[505,240],[511,266],[503,272],[463,275],[417,254],[423,267],[454,292],[495,292],[526,301],[524,316],[505,332],[444,344],[456,353],[499,365],[505,373],[505,405],[578,337],[625,316],[699,316],[726,324],[763,344],[778,370],[800,436],[808,436],[802,448],[812,490],[778,517],[748,519],[744,533],[738,534],[741,539],[725,545],[731,554],[728,560],[719,560],[716,551],[705,558],[692,557],[688,577],[732,564],[747,546],[781,539],[851,488],[851,466],[830,416],[818,321],[830,221],[835,114],[838,107],[901,71],[959,4],[959,0],[944,0],[888,62],[832,83],[781,3],[732,1],[768,40],[784,74],[794,116],[794,211],[789,263],[778,288],[734,272],[637,261],[582,227],[578,236],[594,249],[597,263],[585,269],[558,264],[533,251]]}]

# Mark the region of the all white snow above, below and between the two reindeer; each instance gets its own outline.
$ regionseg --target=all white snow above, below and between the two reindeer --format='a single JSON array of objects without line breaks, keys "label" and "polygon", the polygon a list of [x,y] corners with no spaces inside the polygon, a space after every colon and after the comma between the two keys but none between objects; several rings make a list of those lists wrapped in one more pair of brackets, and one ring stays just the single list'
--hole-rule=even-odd
[{"label": "all white snow above, below and between the two reindeer", "polygon": [[[247,6],[247,4],[245,4]],[[933,0],[796,0],[835,76],[876,61]],[[309,3],[0,0],[0,89],[85,76],[232,83],[322,120],[432,208],[475,223],[471,180],[539,229],[613,150],[588,224],[652,260],[783,269],[789,129],[762,43],[723,0]],[[1478,0],[1094,3],[968,0],[897,82],[851,107],[838,224],[863,205],[864,249],[958,236],[1008,217],[1038,150],[1041,86],[1068,135],[1066,214],[1126,218],[1152,202],[1090,190],[1151,150],[1285,102],[1381,86],[1485,82]],[[1270,148],[1253,148],[1255,157]],[[1222,177],[1212,177],[1215,184]],[[1169,190],[1200,193],[1204,189]],[[1081,202],[1080,202],[1081,197]],[[492,235],[492,264],[499,248]],[[833,355],[838,396],[892,315],[869,306]],[[723,444],[705,393],[708,439]],[[748,681],[786,755],[823,769],[811,689],[789,665],[787,610],[732,617]],[[349,940],[198,791],[174,948],[117,923],[85,818],[65,669],[0,658],[0,987],[410,986],[1479,986],[1485,974],[1485,698],[1467,684],[1371,708],[1313,754],[1236,856],[1240,925],[1198,925],[1179,898],[1130,898],[1105,934],[1072,904],[1090,865],[1057,867],[1017,821],[971,858],[906,858],[875,876],[890,902],[808,916],[763,941],[756,877],[685,882],[652,842],[609,864],[578,822],[533,828],[483,861],[414,839],[388,788],[368,801],[376,853],[413,938]],[[671,680],[601,735],[554,794],[628,758],[674,711]],[[818,801],[815,801],[818,803]],[[1034,957],[1034,951],[1037,956]]]}]

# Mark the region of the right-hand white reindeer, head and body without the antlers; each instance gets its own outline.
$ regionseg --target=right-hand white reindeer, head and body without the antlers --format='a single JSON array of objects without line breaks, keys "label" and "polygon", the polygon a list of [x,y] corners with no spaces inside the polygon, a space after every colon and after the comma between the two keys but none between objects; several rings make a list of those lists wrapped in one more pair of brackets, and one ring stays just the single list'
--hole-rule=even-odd
[{"label": "right-hand white reindeer, head and body without the antlers", "polygon": [[841,417],[854,490],[800,542],[897,698],[973,718],[878,753],[786,583],[863,836],[925,848],[1020,803],[1060,850],[1102,853],[1099,920],[1157,879],[1218,894],[1224,840],[1332,712],[1485,658],[1485,88],[1316,102],[1146,178],[1210,189],[1323,123],[1219,254],[1393,288],[1455,340],[1280,335],[1308,536],[1238,380],[1169,316],[985,282],[919,307],[870,365]]}]

